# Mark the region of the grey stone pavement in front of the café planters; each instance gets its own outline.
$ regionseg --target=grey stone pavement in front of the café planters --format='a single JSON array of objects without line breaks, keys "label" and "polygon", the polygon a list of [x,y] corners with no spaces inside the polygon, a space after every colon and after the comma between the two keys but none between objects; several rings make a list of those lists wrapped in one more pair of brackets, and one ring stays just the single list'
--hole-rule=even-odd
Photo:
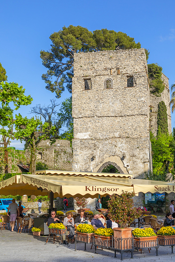
[{"label": "grey stone pavement in front of the caf\u00e9 planters", "polygon": [[[24,231],[24,230],[23,230]],[[91,249],[91,245],[86,245],[86,251],[84,251],[84,244],[77,244],[77,251],[75,251],[75,244],[70,244],[70,247],[60,245],[56,247],[53,244],[52,239],[45,245],[47,237],[40,236],[35,237],[32,233],[21,234],[17,232],[11,232],[9,230],[0,231],[0,261],[1,262],[91,262],[91,261],[120,261],[120,254],[116,254],[114,258],[113,250],[101,250],[97,249],[98,254],[94,254],[94,247]],[[60,238],[59,238],[60,239]],[[56,240],[56,243],[59,243]],[[175,248],[174,248],[175,249]],[[175,251],[174,251],[175,252]],[[125,252],[123,255],[124,261],[132,262],[165,262],[174,261],[175,254],[171,254],[171,247],[159,247],[158,256],[156,256],[156,249],[152,248],[151,253],[148,249],[140,252],[134,251],[134,258],[131,259],[131,253]]]}]

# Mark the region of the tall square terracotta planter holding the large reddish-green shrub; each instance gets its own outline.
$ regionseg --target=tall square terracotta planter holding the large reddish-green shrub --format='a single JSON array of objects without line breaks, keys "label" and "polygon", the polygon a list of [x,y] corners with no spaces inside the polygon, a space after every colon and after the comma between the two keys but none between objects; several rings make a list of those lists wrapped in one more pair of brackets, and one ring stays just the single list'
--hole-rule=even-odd
[{"label": "tall square terracotta planter holding the large reddish-green shrub", "polygon": [[[133,228],[125,227],[118,228],[114,227],[114,246],[117,249],[130,249],[132,246],[132,230]],[[122,237],[122,239],[121,239]]]}]

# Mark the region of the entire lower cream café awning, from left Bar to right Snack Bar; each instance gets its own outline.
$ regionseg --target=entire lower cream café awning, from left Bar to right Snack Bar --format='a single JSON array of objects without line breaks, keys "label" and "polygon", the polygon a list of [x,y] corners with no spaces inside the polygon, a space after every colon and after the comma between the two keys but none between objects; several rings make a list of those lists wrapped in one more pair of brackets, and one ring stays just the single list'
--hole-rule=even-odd
[{"label": "entire lower cream caf\u00e9 awning, from left Bar to right Snack Bar", "polygon": [[[70,172],[68,172],[70,173]],[[92,173],[91,173],[92,174]],[[54,197],[91,197],[121,194],[122,190],[147,193],[175,193],[175,183],[130,179],[121,177],[82,176],[70,174],[21,174],[0,182],[2,195],[47,195],[54,192]]]}]

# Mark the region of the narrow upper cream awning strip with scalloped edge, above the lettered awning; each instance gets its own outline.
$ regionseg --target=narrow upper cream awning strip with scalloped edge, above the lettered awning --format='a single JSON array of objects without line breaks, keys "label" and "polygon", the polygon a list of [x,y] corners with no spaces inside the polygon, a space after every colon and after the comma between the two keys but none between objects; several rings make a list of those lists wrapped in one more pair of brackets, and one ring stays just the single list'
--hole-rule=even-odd
[{"label": "narrow upper cream awning strip with scalloped edge, above the lettered awning", "polygon": [[98,176],[98,177],[133,177],[132,174],[120,173],[99,173],[99,172],[75,172],[75,171],[62,171],[62,170],[36,170],[35,174],[42,175],[70,175],[70,176]]}]

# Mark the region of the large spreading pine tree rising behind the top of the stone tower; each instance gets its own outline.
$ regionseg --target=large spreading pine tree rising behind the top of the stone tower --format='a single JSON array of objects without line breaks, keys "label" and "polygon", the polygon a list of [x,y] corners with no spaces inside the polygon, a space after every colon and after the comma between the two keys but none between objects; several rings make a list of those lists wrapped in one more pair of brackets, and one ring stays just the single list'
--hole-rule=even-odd
[{"label": "large spreading pine tree rising behind the top of the stone tower", "polygon": [[[73,77],[73,54],[77,52],[92,52],[100,50],[118,50],[140,48],[133,37],[114,30],[95,30],[93,33],[87,28],[70,25],[59,32],[50,35],[51,50],[41,50],[40,57],[43,65],[48,69],[42,75],[46,89],[56,93],[59,98],[64,91],[64,84],[71,93]],[[148,51],[147,56],[148,56]]]}]

